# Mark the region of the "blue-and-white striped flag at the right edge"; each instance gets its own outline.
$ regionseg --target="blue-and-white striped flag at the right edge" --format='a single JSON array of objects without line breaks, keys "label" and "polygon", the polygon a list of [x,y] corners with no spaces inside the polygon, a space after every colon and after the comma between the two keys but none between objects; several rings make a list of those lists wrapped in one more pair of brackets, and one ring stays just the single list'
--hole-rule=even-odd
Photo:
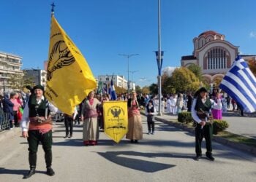
[{"label": "blue-and-white striped flag at the right edge", "polygon": [[256,111],[256,79],[244,59],[236,58],[219,88],[236,100],[245,112]]}]

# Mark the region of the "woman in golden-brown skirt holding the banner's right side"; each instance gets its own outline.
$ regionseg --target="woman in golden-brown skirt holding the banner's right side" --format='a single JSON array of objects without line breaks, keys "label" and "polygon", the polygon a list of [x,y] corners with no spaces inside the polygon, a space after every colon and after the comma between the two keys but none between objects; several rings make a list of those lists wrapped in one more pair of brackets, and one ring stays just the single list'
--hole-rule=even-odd
[{"label": "woman in golden-brown skirt holding the banner's right side", "polygon": [[132,98],[128,100],[128,132],[127,138],[131,143],[138,143],[142,139],[142,123],[140,116],[140,106],[137,101],[135,91],[132,91]]}]

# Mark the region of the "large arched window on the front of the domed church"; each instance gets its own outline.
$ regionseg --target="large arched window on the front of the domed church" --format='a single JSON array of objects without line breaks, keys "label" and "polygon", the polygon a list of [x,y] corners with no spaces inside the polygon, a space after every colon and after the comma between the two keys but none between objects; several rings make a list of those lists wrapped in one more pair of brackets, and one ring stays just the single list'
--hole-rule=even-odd
[{"label": "large arched window on the front of the domed church", "polygon": [[227,55],[222,47],[213,47],[207,52],[207,69],[227,68]]}]

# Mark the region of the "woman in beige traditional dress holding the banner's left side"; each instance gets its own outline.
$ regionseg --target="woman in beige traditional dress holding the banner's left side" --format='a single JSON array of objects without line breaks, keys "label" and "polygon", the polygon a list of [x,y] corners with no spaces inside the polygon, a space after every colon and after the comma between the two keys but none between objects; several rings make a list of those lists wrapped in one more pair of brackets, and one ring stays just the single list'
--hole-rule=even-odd
[{"label": "woman in beige traditional dress holding the banner's left side", "polygon": [[89,92],[82,108],[83,144],[85,146],[97,145],[99,139],[98,108],[100,102],[94,98],[94,91]]}]

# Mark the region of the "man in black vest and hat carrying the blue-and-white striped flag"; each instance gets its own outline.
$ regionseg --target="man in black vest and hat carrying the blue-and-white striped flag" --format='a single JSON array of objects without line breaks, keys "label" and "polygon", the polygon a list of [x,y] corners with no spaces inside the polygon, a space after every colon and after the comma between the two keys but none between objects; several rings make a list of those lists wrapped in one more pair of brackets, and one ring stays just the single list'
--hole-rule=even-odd
[{"label": "man in black vest and hat carrying the blue-and-white striped flag", "polygon": [[207,90],[205,87],[201,87],[195,93],[195,98],[192,103],[192,118],[197,124],[195,127],[196,160],[199,160],[202,157],[201,143],[204,137],[206,139],[206,157],[211,161],[214,161],[211,146],[213,126],[209,116],[211,114],[211,107],[217,106],[217,104],[219,103],[215,103],[214,100],[207,97]]}]

